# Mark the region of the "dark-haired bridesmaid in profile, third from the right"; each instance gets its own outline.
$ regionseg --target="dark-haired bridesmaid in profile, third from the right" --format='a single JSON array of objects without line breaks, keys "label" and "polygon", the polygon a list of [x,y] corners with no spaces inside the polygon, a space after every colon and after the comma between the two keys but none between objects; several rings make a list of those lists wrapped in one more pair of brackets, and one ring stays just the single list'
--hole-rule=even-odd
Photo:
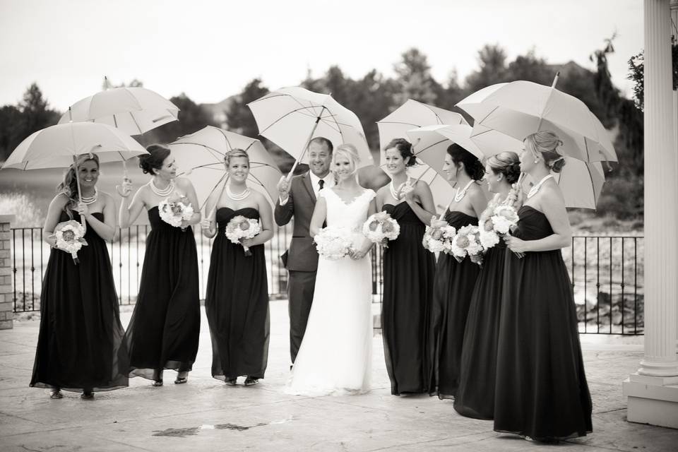
[{"label": "dark-haired bridesmaid in profile, third from the right", "polygon": [[[445,220],[456,229],[477,225],[487,207],[487,199],[477,181],[485,173],[480,160],[458,144],[450,145],[443,171],[457,189]],[[429,394],[453,398],[459,386],[461,347],[468,305],[480,273],[470,258],[458,262],[450,254],[440,254],[434,279],[431,328],[429,333]]]}]

